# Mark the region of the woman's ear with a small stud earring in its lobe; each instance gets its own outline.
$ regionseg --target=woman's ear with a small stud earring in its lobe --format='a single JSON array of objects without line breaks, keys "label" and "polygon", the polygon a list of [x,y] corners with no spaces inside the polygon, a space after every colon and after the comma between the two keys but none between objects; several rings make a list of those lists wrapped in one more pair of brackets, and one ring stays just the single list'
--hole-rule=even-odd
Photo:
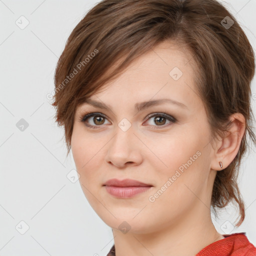
[{"label": "woman's ear with a small stud earring in its lobe", "polygon": [[[211,169],[222,170],[226,168],[236,156],[241,139],[245,131],[245,118],[241,113],[230,115],[230,128],[225,132],[225,136],[216,140],[214,155],[211,161]],[[222,168],[219,161],[222,162]]]}]

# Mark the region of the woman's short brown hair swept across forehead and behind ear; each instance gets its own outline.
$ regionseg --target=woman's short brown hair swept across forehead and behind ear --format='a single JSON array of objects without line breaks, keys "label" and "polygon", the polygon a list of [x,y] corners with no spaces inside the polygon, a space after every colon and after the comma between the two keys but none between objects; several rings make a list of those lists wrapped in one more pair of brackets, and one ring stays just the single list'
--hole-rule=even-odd
[{"label": "woman's short brown hair swept across forehead and behind ear", "polygon": [[[214,214],[216,208],[237,203],[239,226],[245,209],[236,180],[238,169],[249,147],[248,136],[256,144],[250,107],[254,54],[234,16],[216,0],[102,0],[87,12],[69,35],[54,76],[52,105],[56,122],[64,125],[67,154],[76,107],[164,40],[191,52],[198,67],[198,77],[193,78],[213,137],[228,128],[232,113],[245,117],[239,151],[225,169],[217,171],[211,197]],[[106,76],[109,67],[122,58]]]}]

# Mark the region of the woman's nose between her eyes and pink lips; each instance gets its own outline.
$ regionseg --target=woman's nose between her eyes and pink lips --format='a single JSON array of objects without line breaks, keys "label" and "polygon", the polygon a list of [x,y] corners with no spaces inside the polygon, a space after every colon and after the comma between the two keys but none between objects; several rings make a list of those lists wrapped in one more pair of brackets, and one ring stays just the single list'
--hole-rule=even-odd
[{"label": "woman's nose between her eyes and pink lips", "polygon": [[122,126],[120,127],[116,126],[114,136],[107,143],[105,161],[118,168],[140,164],[143,143],[134,133],[132,126],[127,130],[123,129]]}]

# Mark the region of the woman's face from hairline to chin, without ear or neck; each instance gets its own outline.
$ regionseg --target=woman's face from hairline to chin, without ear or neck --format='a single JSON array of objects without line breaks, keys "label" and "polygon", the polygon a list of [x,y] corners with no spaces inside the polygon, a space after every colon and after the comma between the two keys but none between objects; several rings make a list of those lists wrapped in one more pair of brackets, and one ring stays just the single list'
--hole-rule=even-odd
[{"label": "woman's face from hairline to chin, without ear or neck", "polygon": [[[79,181],[110,227],[146,233],[208,214],[216,171],[195,70],[191,55],[162,42],[90,97],[108,108],[89,103],[77,108],[71,150]],[[169,101],[139,104],[159,99]],[[85,112],[95,115],[81,122]],[[104,184],[113,178],[151,186],[112,187],[123,196],[110,194]],[[142,192],[128,193],[135,189]]]}]

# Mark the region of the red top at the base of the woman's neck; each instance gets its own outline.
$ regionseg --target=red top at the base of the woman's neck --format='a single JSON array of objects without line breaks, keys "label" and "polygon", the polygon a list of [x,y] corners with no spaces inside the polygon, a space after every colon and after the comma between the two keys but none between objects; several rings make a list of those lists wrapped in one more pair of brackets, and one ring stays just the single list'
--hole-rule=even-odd
[{"label": "red top at the base of the woman's neck", "polygon": [[[256,256],[256,247],[249,242],[245,232],[222,235],[225,238],[207,245],[195,256]],[[114,245],[106,256],[115,256]]]}]

